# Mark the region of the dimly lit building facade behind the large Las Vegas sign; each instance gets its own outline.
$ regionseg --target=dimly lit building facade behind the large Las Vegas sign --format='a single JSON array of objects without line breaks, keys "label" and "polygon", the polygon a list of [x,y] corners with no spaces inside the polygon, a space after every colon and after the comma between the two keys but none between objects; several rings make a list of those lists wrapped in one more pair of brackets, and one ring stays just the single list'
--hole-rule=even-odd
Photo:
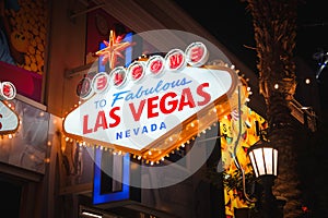
[{"label": "dimly lit building facade behind the large Las Vegas sign", "polygon": [[[232,197],[234,193],[227,193],[223,172],[238,170],[232,167],[234,160],[231,158],[236,150],[229,153],[232,149],[229,145],[242,144],[238,144],[238,157],[246,167],[248,160],[242,148],[249,147],[258,138],[251,123],[256,121],[266,128],[266,106],[256,92],[257,76],[177,4],[173,1],[37,0],[3,7],[8,17],[8,21],[3,20],[3,26],[9,24],[10,28],[4,33],[9,49],[0,62],[0,80],[10,81],[16,88],[15,98],[3,102],[17,116],[19,125],[1,132],[0,172],[3,192],[13,196],[3,208],[11,208],[13,217],[87,217],[84,211],[103,217],[226,217],[235,216],[234,208],[251,207],[242,198]],[[201,147],[197,157],[203,157],[204,161],[189,172],[189,177],[172,185],[142,189],[142,185],[125,185],[108,177],[104,172],[106,167],[114,170],[118,165],[125,169],[127,165],[129,180],[140,184],[154,180],[169,183],[176,178],[176,171],[144,172],[140,166],[156,166],[132,155],[126,160],[125,155],[114,154],[120,150],[70,137],[63,130],[63,120],[80,107],[85,88],[83,82],[98,72],[95,53],[102,49],[101,43],[110,41],[110,31],[117,36],[129,33],[151,36],[148,40],[156,45],[157,50],[147,40],[134,38],[133,60],[142,55],[157,55],[163,48],[167,52],[185,45],[184,40],[188,41],[172,33],[168,34],[172,38],[164,34],[142,35],[153,31],[162,33],[163,29],[188,33],[214,46],[220,52],[211,64],[231,69],[235,65],[236,76],[246,82],[245,86],[250,87],[253,95],[247,105],[245,101],[243,107],[236,107],[239,111],[231,109],[197,140],[190,137],[186,146],[167,153],[169,157],[165,158],[165,164],[183,160],[184,166],[192,166],[194,156],[187,154],[197,146]],[[118,57],[118,64],[126,64],[128,55],[124,56],[125,59]],[[295,118],[305,123],[307,113],[297,110],[300,107],[295,101],[293,111]],[[246,117],[239,118],[242,113]],[[311,122],[311,119],[309,122],[306,120],[306,123]],[[196,142],[197,146],[194,146]],[[97,168],[95,162],[102,167]],[[207,177],[213,166],[219,172],[216,184]],[[116,172],[122,173],[121,170]]]}]

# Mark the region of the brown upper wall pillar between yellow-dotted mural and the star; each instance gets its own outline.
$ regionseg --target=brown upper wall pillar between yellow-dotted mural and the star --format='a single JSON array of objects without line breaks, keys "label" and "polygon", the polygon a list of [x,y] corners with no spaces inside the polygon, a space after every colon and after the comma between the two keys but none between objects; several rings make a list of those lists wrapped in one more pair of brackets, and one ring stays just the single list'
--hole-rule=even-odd
[{"label": "brown upper wall pillar between yellow-dotted mural and the star", "polygon": [[74,96],[65,92],[70,81],[65,81],[67,70],[84,64],[85,14],[70,19],[83,10],[77,1],[52,1],[51,28],[47,69],[46,101],[48,111],[61,117],[69,109],[66,99]]}]

